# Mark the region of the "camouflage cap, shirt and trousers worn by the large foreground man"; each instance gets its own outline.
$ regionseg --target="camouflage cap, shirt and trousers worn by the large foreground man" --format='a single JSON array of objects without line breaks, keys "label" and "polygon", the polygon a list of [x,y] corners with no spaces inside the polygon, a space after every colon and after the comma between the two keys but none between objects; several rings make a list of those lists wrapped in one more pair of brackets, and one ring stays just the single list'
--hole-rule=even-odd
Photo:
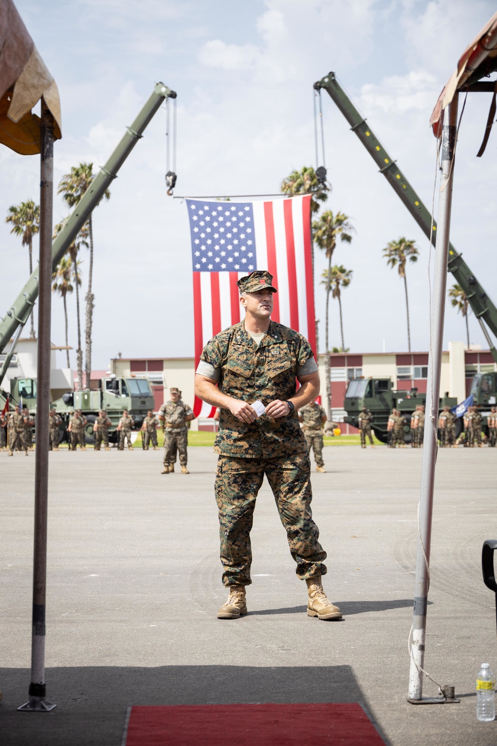
[{"label": "camouflage cap, shirt and trousers worn by the large foreground man", "polygon": [[[240,292],[273,288],[269,272],[253,272],[238,280]],[[288,401],[296,393],[296,376],[317,371],[308,341],[300,333],[271,321],[259,345],[244,322],[217,334],[203,348],[197,373],[216,380],[229,397],[248,404]],[[219,454],[215,480],[221,562],[225,586],[251,583],[250,529],[256,497],[268,478],[285,526],[297,576],[302,580],[326,574],[326,552],[311,513],[311,462],[297,411],[277,419],[265,414],[241,422],[221,409],[215,439]]]}]

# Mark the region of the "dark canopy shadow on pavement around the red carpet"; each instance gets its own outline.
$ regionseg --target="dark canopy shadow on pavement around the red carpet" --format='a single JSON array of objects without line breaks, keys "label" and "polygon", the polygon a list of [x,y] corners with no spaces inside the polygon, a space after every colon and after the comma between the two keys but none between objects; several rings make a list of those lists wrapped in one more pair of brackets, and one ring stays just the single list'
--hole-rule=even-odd
[{"label": "dark canopy shadow on pavement around the red carpet", "polygon": [[369,712],[349,665],[50,668],[47,696],[57,708],[17,712],[29,676],[28,668],[0,668],[2,746],[120,746],[130,704],[358,702]]}]

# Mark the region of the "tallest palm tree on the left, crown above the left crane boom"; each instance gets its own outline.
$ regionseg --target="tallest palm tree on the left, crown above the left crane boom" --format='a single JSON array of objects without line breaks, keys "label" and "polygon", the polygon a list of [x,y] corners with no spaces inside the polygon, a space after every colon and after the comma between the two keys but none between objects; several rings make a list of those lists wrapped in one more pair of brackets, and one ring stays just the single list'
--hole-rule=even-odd
[{"label": "tallest palm tree on the left, crown above the left crane boom", "polygon": [[[80,163],[79,166],[72,166],[71,172],[63,176],[60,180],[57,194],[61,194],[63,201],[69,207],[75,207],[80,201],[83,194],[95,178],[93,173],[93,163]],[[110,191],[106,189],[104,197],[110,199]],[[90,374],[92,372],[92,324],[93,324],[93,303],[95,296],[92,293],[93,280],[93,222],[92,213],[89,215],[88,222],[89,232],[89,271],[88,271],[88,290],[85,295],[85,370],[86,384],[89,386]],[[87,245],[87,244],[86,244]]]}]

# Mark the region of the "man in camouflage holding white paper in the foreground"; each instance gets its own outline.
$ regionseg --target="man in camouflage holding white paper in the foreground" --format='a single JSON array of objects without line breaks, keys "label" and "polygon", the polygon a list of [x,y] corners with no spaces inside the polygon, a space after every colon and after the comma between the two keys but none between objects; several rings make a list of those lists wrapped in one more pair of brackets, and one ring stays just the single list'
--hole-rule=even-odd
[{"label": "man in camouflage holding white paper in the foreground", "polygon": [[221,408],[214,448],[219,454],[215,495],[229,596],[218,618],[247,613],[250,529],[266,475],[297,562],[297,577],[308,586],[308,615],[339,619],[340,609],[326,598],[321,584],[326,552],[312,520],[311,461],[297,415],[319,394],[320,379],[307,339],[270,320],[276,292],[272,280],[269,272],[259,271],[238,280],[245,319],[206,344],[195,376],[196,395]]}]

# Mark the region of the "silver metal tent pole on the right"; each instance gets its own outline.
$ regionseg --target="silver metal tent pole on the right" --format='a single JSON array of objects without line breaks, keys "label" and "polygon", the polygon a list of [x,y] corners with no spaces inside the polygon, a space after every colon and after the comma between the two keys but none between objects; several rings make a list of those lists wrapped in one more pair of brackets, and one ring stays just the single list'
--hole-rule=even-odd
[{"label": "silver metal tent pole on the right", "polygon": [[[422,452],[420,494],[420,536],[417,542],[416,583],[409,671],[410,700],[422,698],[422,671],[425,659],[426,607],[428,602],[428,568],[431,545],[431,513],[435,463],[437,460],[437,427],[440,398],[440,368],[442,363],[443,315],[445,311],[447,260],[449,257],[450,213],[454,179],[455,140],[458,123],[458,93],[446,109],[442,134],[442,175],[438,198],[437,251],[433,301],[431,310],[431,345],[428,356],[428,386],[426,391],[425,442]],[[423,547],[426,560],[423,554]]]}]

